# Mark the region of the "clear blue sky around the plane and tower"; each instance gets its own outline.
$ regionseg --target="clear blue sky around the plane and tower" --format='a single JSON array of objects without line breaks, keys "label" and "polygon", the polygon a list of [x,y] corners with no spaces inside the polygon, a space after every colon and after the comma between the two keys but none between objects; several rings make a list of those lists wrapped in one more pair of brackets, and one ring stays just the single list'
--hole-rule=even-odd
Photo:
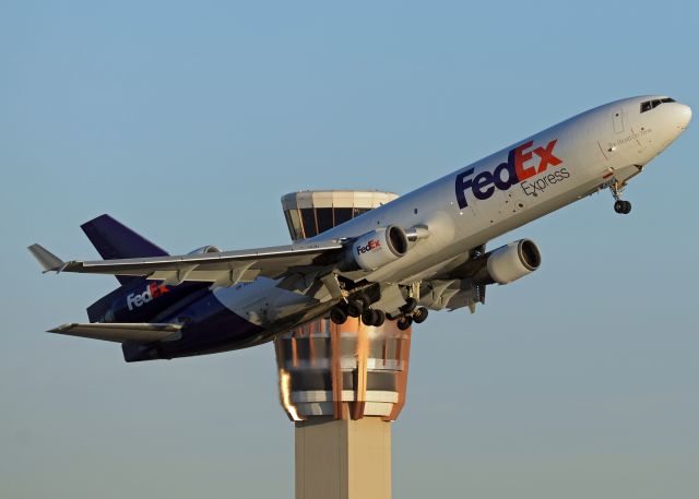
[{"label": "clear blue sky around the plane and tower", "polygon": [[[587,108],[699,109],[696,2],[0,4],[0,497],[293,496],[271,345],[127,365],[43,333],[110,213],[173,252],[277,245],[297,189],[406,192]],[[394,497],[696,498],[698,123],[635,180],[503,237],[541,271],[414,333]]]}]

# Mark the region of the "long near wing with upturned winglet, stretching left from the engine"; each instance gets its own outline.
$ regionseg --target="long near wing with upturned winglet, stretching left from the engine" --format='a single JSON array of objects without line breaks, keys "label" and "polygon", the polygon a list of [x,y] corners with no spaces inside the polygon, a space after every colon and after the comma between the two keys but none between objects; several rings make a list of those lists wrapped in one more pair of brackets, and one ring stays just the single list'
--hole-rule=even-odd
[{"label": "long near wing with upturned winglet, stretching left from the engine", "polygon": [[44,272],[134,275],[168,285],[200,281],[232,286],[259,276],[275,278],[295,269],[332,264],[344,248],[342,242],[331,240],[242,251],[70,262],[63,262],[40,245],[28,249]]}]

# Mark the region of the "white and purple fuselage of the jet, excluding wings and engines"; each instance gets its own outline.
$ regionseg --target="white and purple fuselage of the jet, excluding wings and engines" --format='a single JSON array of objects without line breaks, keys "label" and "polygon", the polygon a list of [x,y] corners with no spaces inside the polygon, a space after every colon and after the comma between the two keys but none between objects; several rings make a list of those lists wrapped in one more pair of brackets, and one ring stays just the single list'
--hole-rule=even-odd
[{"label": "white and purple fuselage of the jet, excluding wings and engines", "polygon": [[[309,240],[353,238],[389,225],[427,227],[429,237],[365,276],[368,282],[420,281],[517,227],[606,187],[624,187],[688,124],[689,108],[667,98],[641,111],[642,103],[662,98],[629,98],[578,115]],[[191,325],[157,347],[125,346],[125,356],[173,358],[250,346],[332,305],[276,285],[258,278],[217,287],[169,314],[161,311],[159,322]]]}]

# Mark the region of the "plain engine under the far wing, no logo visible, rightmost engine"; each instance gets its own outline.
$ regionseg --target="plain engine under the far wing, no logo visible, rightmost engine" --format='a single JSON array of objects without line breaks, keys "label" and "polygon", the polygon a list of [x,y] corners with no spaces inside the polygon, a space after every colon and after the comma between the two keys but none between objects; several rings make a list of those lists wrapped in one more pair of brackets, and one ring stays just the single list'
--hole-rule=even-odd
[{"label": "plain engine under the far wing, no logo visible, rightmost engine", "polygon": [[507,284],[531,274],[542,263],[534,241],[521,239],[493,250],[486,256],[486,270],[490,282]]}]

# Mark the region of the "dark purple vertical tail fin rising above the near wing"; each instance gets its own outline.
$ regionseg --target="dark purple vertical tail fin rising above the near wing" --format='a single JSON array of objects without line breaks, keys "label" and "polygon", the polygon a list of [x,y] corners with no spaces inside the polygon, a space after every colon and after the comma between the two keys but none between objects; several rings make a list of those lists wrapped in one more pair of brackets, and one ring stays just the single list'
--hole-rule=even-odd
[{"label": "dark purple vertical tail fin rising above the near wing", "polygon": [[[81,228],[105,260],[138,257],[164,257],[167,253],[159,246],[149,241],[126,225],[109,215],[99,215],[81,225]],[[117,275],[121,284],[133,281],[134,277]],[[138,278],[138,277],[137,277]]]}]

